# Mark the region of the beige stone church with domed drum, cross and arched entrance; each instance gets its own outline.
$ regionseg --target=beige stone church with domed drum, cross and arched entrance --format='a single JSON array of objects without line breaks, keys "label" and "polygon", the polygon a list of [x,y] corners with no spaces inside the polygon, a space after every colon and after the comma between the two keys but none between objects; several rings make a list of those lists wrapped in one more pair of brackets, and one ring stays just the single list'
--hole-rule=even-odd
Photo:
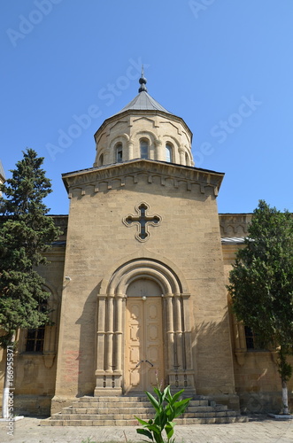
[{"label": "beige stone church with domed drum, cross and arched entrance", "polygon": [[236,410],[280,406],[276,355],[253,348],[227,298],[251,215],[218,214],[224,175],[194,166],[189,127],[145,83],[96,131],[94,166],[63,175],[70,211],[40,268],[54,324],[19,331],[19,413],[157,380]]}]

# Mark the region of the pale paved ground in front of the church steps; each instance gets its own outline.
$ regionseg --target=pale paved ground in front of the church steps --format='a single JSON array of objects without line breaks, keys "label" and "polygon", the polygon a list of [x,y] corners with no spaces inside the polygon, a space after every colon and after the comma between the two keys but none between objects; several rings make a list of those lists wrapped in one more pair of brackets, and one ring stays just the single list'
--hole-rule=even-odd
[{"label": "pale paved ground in front of the church steps", "polygon": [[[40,419],[24,418],[14,424],[14,435],[9,436],[7,424],[2,422],[0,423],[0,442],[102,443],[112,441],[133,443],[143,441],[136,434],[135,427],[42,427],[39,424]],[[249,423],[243,424],[190,424],[175,427],[174,436],[176,443],[293,443],[293,421],[280,422],[265,416],[257,416],[251,417]]]}]

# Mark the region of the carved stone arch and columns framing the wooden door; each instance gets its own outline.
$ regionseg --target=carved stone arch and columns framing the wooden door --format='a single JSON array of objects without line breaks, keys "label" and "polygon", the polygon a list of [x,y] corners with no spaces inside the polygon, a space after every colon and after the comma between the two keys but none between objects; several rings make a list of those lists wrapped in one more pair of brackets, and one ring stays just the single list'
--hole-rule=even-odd
[{"label": "carved stone arch and columns framing the wooden door", "polygon": [[104,277],[97,295],[95,395],[123,394],[127,287],[141,278],[154,281],[162,291],[166,383],[195,393],[186,282],[161,260],[133,257]]}]

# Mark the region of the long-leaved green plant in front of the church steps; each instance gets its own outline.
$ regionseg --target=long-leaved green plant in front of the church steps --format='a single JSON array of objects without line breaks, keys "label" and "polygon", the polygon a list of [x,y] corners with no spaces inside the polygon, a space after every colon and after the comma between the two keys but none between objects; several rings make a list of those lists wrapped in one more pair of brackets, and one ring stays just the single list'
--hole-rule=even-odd
[{"label": "long-leaved green plant in front of the church steps", "polygon": [[173,419],[181,416],[185,409],[188,408],[191,399],[179,400],[184,389],[172,395],[170,386],[167,386],[164,391],[161,391],[158,386],[158,388],[154,388],[154,392],[157,394],[158,400],[156,400],[150,392],[145,393],[151,405],[155,408],[156,415],[153,420],[150,419],[148,422],[135,416],[136,420],[138,420],[140,424],[143,424],[143,429],[139,428],[136,432],[143,434],[152,441],[156,441],[156,443],[164,443],[162,433],[166,431],[167,443],[172,443],[174,439],[171,440],[171,438],[173,437],[173,428],[175,425]]}]

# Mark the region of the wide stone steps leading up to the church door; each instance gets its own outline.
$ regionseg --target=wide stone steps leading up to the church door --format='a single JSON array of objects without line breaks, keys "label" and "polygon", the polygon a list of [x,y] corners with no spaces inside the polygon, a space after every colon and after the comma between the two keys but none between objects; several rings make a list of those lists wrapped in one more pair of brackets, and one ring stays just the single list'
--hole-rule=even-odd
[{"label": "wide stone steps leading up to the church door", "polygon": [[[42,420],[42,426],[137,426],[135,416],[148,420],[155,415],[146,396],[140,397],[81,397],[73,406]],[[189,408],[175,424],[227,424],[247,422],[227,406],[218,405],[207,397],[194,396]]]}]

